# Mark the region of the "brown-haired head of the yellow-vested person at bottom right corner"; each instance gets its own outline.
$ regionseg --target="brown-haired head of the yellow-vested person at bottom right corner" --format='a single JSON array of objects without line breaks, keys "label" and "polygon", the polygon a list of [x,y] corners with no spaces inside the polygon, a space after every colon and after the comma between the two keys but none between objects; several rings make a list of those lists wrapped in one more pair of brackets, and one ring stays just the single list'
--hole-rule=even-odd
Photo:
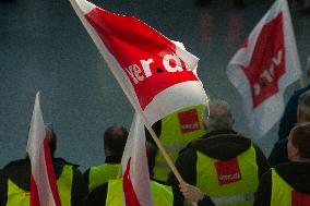
[{"label": "brown-haired head of the yellow-vested person at bottom right corner", "polygon": [[291,161],[310,161],[310,122],[298,123],[290,130],[287,154]]}]

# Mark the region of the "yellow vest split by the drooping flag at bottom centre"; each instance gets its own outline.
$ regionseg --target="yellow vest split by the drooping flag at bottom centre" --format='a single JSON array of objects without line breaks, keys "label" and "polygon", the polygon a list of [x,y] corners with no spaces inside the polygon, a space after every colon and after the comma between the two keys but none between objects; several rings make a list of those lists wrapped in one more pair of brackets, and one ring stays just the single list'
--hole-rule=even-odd
[{"label": "yellow vest split by the drooping flag at bottom centre", "polygon": [[[171,186],[150,181],[154,206],[172,206],[174,194]],[[122,179],[109,180],[106,206],[122,206]]]}]

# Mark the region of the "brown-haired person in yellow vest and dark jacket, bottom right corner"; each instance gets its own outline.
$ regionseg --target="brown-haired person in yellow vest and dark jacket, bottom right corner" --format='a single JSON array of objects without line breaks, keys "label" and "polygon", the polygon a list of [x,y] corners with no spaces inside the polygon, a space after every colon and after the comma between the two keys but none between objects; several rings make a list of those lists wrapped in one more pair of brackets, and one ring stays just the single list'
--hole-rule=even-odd
[{"label": "brown-haired person in yellow vest and dark jacket, bottom right corner", "polygon": [[291,129],[287,154],[290,162],[279,163],[262,177],[255,206],[310,205],[310,122]]}]

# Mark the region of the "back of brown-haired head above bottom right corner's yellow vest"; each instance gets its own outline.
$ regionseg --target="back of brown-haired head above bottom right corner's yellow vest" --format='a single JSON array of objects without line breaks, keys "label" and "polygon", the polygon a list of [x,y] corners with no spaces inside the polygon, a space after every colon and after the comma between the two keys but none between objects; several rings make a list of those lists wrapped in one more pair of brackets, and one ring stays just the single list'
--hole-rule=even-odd
[{"label": "back of brown-haired head above bottom right corner's yellow vest", "polygon": [[310,122],[302,122],[290,131],[290,141],[294,147],[298,148],[302,159],[310,160]]}]

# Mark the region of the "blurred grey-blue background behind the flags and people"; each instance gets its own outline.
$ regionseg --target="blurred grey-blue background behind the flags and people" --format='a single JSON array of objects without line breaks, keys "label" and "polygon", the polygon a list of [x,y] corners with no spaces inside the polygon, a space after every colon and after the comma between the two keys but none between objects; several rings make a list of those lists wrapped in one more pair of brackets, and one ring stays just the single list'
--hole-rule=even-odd
[{"label": "blurred grey-blue background behind the flags and people", "polygon": [[[227,100],[236,130],[249,135],[241,98],[226,66],[272,1],[94,0],[111,12],[134,15],[199,57],[199,76],[211,98]],[[289,4],[294,3],[289,1]],[[306,84],[310,15],[291,7]],[[299,88],[287,88],[285,100]],[[0,167],[25,156],[35,94],[41,92],[46,123],[58,134],[56,156],[84,170],[105,160],[103,134],[114,123],[128,129],[133,109],[68,0],[0,0]],[[269,155],[278,124],[255,140]]]}]

